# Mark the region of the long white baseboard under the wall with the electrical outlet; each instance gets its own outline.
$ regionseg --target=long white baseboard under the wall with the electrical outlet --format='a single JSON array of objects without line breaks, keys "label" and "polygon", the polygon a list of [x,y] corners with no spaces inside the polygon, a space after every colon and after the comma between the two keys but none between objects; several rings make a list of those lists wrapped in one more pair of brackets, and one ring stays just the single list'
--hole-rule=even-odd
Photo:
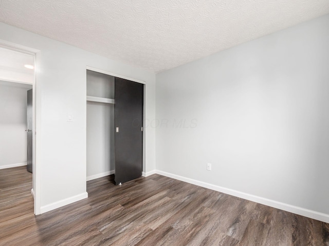
[{"label": "long white baseboard under the wall with the electrical outlet", "polygon": [[225,187],[221,187],[221,186],[215,186],[212,185],[211,183],[206,183],[203,181],[198,181],[192,178],[187,178],[187,177],[183,177],[183,176],[179,176],[176,174],[172,174],[172,173],[167,173],[167,172],[163,172],[160,170],[155,170],[155,173],[159,174],[159,175],[163,175],[166,177],[170,177],[170,178],[174,178],[180,181],[184,181],[187,183],[191,183],[192,185],[196,185],[196,186],[200,186],[200,187],[204,187],[210,190],[214,190],[214,191],[219,191],[228,195],[232,195],[232,196],[236,196],[236,197],[240,197],[249,201],[254,201],[254,202],[258,202],[261,204],[264,204],[266,206],[269,207],[273,207],[273,208],[277,208],[277,209],[281,209],[290,213],[294,213],[294,214],[299,214],[308,218],[312,218],[312,219],[316,219],[316,220],[320,220],[326,223],[329,223],[329,214],[324,214],[324,213],[320,213],[317,211],[313,211],[313,210],[309,210],[309,209],[304,209],[301,207],[297,207],[294,205],[290,205],[287,203],[283,203],[280,201],[275,201],[275,200],[271,200],[271,199],[267,199],[264,197],[260,197],[260,196],[255,196],[255,195],[251,195],[248,193],[244,193],[244,192],[240,192],[240,191],[236,191],[236,190],[232,190],[232,189],[228,189]]}]

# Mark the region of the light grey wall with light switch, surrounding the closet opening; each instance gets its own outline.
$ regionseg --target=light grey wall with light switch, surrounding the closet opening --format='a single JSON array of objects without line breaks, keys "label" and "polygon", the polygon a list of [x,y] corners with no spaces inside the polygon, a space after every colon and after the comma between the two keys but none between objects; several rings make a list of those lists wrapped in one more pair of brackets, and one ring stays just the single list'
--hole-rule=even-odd
[{"label": "light grey wall with light switch, surrounding the closet opening", "polygon": [[[41,200],[36,201],[36,213],[86,197],[86,66],[145,81],[147,118],[155,117],[155,74],[4,23],[0,23],[0,39],[40,50],[35,196],[40,194]],[[67,122],[67,113],[73,115],[73,122]],[[145,129],[145,138],[144,171],[154,170],[155,129]]]}]

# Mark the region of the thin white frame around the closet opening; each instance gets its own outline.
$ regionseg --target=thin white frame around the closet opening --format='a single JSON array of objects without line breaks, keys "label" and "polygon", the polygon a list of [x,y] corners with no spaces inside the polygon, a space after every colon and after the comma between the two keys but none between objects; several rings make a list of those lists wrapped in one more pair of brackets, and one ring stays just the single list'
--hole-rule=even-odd
[{"label": "thin white frame around the closet opening", "polygon": [[[146,136],[146,131],[147,129],[145,128],[145,107],[146,107],[146,104],[145,104],[145,97],[146,97],[146,82],[143,81],[143,80],[140,80],[140,79],[137,79],[137,78],[131,78],[131,77],[128,77],[128,76],[125,76],[125,75],[121,75],[121,74],[117,74],[117,73],[113,73],[113,72],[109,72],[109,71],[106,71],[106,70],[102,70],[102,69],[98,69],[98,68],[94,68],[94,67],[90,67],[90,66],[86,66],[86,70],[90,70],[90,71],[94,71],[94,72],[98,72],[98,73],[102,73],[102,74],[106,74],[106,75],[111,75],[111,76],[114,76],[114,77],[118,77],[118,78],[123,78],[123,79],[127,79],[127,80],[131,80],[131,81],[134,81],[134,82],[137,82],[137,83],[140,83],[140,84],[143,84],[143,167],[142,167],[142,173],[144,174],[145,170],[146,170],[146,167],[145,167],[145,136]],[[87,88],[87,79],[86,79],[86,84],[85,84],[85,88]],[[87,96],[87,95],[86,95]],[[85,133],[87,134],[87,132]],[[87,139],[87,136],[86,138]],[[87,154],[87,150],[86,150],[86,154]],[[86,162],[86,166],[87,166],[87,162]]]}]

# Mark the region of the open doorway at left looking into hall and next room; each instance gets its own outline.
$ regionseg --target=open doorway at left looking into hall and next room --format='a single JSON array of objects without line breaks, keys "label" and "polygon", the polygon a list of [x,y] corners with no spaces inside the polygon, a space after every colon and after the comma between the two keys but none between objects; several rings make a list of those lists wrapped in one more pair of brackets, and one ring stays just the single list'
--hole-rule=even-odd
[{"label": "open doorway at left looking into hall and next room", "polygon": [[[17,46],[18,47],[18,46]],[[0,93],[2,110],[0,128],[6,132],[5,148],[1,148],[0,169],[24,167],[31,176],[31,196],[34,196],[35,159],[35,53],[16,48],[15,44],[0,44]],[[28,92],[29,91],[29,92]],[[33,94],[33,95],[32,95]],[[27,98],[30,98],[28,105]],[[30,114],[30,125],[28,117]],[[30,140],[28,141],[28,135]],[[4,136],[4,135],[3,135]],[[28,159],[28,155],[30,158]],[[22,170],[23,167],[20,168]],[[0,170],[1,171],[1,170]],[[9,170],[6,170],[8,172]],[[19,194],[19,193],[17,193]],[[34,199],[35,204],[35,199]],[[35,213],[35,206],[34,206]]]}]

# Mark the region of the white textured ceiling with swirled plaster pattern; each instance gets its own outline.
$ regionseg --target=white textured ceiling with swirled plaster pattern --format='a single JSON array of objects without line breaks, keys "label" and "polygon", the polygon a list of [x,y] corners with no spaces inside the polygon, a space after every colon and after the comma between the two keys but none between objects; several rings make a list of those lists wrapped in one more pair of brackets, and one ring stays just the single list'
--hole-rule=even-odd
[{"label": "white textured ceiling with swirled plaster pattern", "polygon": [[159,72],[329,13],[328,0],[0,0],[0,21]]}]

